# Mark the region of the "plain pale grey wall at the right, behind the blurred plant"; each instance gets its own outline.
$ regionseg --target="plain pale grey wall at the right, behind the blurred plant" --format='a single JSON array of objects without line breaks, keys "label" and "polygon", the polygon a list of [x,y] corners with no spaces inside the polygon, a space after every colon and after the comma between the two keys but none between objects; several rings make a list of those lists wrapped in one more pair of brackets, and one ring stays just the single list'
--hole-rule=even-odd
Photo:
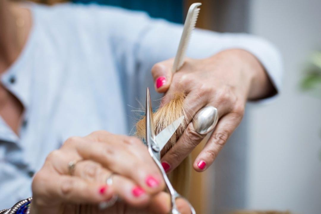
[{"label": "plain pale grey wall at the right, behind the blurred plant", "polygon": [[321,49],[321,1],[252,0],[249,31],[284,59],[284,87],[272,105],[249,105],[250,209],[321,213],[321,99],[299,90],[308,55]]}]

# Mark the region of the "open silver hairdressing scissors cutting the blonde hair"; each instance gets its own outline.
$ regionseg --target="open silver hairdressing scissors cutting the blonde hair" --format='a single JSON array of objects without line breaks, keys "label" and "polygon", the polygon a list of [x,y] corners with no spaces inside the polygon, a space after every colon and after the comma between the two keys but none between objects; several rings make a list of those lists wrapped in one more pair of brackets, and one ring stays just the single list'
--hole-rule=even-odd
[{"label": "open silver hairdressing scissors cutting the blonde hair", "polygon": [[[180,214],[180,212],[177,209],[175,201],[177,198],[184,198],[184,197],[182,197],[178,192],[176,192],[176,190],[173,188],[172,184],[170,183],[169,178],[167,177],[166,172],[160,162],[160,152],[166,145],[167,141],[169,141],[171,136],[175,133],[176,129],[182,123],[183,120],[184,120],[184,116],[181,116],[156,136],[154,120],[153,120],[153,112],[152,112],[152,100],[151,100],[151,95],[149,93],[149,88],[147,88],[146,90],[146,144],[148,147],[148,152],[152,156],[158,168],[160,169],[160,172],[162,173],[162,176],[169,190],[169,193],[171,196],[171,204],[172,204],[171,213],[172,214]],[[187,203],[191,209],[192,214],[196,214],[193,206],[188,201]]]}]

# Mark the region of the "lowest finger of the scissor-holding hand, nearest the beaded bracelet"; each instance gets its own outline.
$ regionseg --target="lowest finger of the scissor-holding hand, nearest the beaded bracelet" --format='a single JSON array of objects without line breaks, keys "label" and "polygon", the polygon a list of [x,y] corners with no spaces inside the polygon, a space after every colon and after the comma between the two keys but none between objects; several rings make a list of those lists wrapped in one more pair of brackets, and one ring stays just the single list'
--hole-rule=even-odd
[{"label": "lowest finger of the scissor-holding hand, nearest the beaded bracelet", "polygon": [[[46,185],[42,185],[46,182]],[[50,185],[49,185],[50,184]],[[105,188],[101,191],[102,187]],[[99,203],[108,200],[112,196],[111,191],[107,191],[105,184],[85,181],[82,178],[69,175],[54,175],[45,171],[35,175],[32,182],[33,193],[41,197],[36,203],[41,204],[41,200],[55,198],[64,203]]]}]

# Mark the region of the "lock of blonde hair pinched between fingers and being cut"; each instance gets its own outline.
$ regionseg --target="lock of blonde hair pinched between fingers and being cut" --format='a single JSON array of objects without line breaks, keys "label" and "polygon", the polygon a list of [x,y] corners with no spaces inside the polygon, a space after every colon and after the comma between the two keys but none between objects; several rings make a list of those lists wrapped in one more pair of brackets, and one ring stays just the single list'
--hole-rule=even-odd
[{"label": "lock of blonde hair pinched between fingers and being cut", "polygon": [[[174,94],[174,98],[164,106],[160,107],[153,113],[153,120],[155,125],[155,133],[160,133],[168,125],[172,124],[179,117],[184,116],[182,124],[178,127],[176,132],[167,142],[162,154],[166,153],[172,148],[176,141],[182,136],[188,124],[186,117],[186,110],[184,106],[185,95],[180,92]],[[145,116],[136,123],[136,136],[145,138]],[[189,192],[191,176],[191,157],[188,155],[183,162],[169,174],[169,179],[178,193],[187,197]]]}]

